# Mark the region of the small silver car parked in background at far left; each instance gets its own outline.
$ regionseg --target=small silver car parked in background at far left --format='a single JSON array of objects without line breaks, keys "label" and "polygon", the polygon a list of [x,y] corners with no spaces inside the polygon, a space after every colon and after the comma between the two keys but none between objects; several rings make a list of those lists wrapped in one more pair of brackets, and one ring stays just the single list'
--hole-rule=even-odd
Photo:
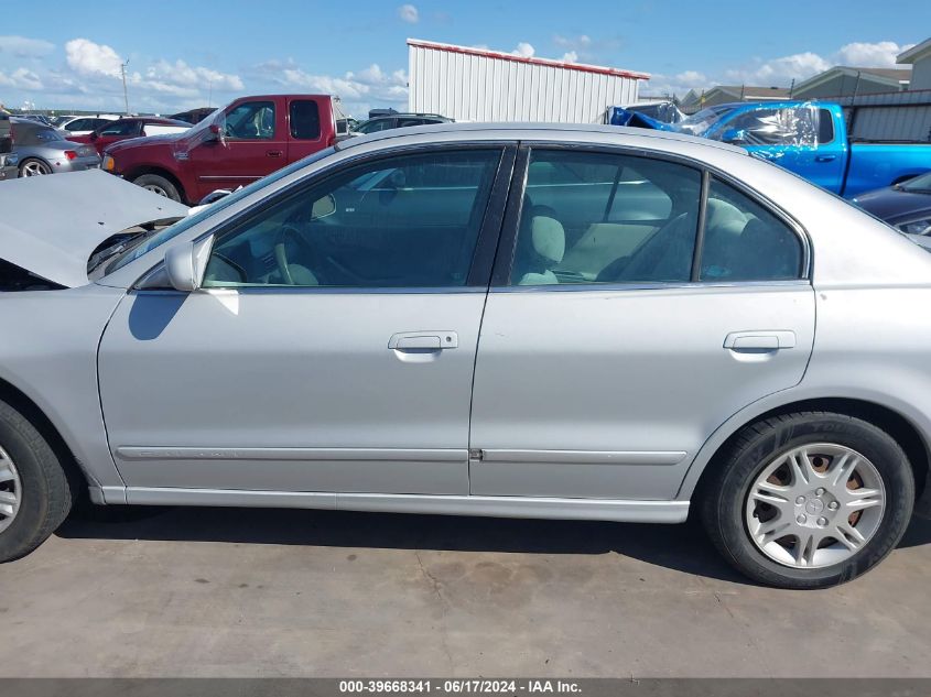
[{"label": "small silver car parked in background at far left", "polygon": [[11,121],[13,152],[19,156],[20,176],[100,167],[100,155],[93,145],[67,141],[61,131],[39,121],[17,118]]}]

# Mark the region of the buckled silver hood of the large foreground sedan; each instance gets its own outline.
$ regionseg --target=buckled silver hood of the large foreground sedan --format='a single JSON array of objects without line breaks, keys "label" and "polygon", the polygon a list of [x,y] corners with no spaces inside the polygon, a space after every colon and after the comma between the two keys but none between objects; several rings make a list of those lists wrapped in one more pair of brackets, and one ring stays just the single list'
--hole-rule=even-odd
[{"label": "buckled silver hood of the large foreground sedan", "polygon": [[0,259],[64,285],[87,284],[87,260],[138,225],[183,218],[187,206],[99,170],[0,186]]}]

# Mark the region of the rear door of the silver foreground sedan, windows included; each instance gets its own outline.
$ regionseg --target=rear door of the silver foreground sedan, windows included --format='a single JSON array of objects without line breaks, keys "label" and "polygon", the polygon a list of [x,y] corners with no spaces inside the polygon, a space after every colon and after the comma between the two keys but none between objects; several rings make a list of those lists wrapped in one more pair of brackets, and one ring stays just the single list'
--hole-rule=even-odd
[{"label": "rear door of the silver foreground sedan, windows included", "polygon": [[508,220],[476,361],[473,494],[672,499],[722,423],[801,380],[805,242],[699,165],[541,146]]}]

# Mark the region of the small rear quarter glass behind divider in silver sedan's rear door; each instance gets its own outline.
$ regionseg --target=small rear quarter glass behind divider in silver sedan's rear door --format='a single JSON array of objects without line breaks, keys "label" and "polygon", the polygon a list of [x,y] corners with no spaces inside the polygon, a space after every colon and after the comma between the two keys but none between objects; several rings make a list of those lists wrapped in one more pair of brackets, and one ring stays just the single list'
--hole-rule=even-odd
[{"label": "small rear quarter glass behind divider in silver sedan's rear door", "polygon": [[802,277],[802,243],[789,226],[716,178],[708,188],[702,281],[790,281]]}]

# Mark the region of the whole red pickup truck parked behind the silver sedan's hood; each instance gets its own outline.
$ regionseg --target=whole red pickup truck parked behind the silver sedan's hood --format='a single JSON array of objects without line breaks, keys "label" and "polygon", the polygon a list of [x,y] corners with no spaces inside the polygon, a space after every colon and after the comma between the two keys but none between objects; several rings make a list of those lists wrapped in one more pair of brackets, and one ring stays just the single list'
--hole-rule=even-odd
[{"label": "whole red pickup truck parked behind the silver sedan's hood", "polygon": [[102,166],[194,205],[328,148],[345,124],[338,100],[328,95],[241,97],[183,133],[113,143]]}]

